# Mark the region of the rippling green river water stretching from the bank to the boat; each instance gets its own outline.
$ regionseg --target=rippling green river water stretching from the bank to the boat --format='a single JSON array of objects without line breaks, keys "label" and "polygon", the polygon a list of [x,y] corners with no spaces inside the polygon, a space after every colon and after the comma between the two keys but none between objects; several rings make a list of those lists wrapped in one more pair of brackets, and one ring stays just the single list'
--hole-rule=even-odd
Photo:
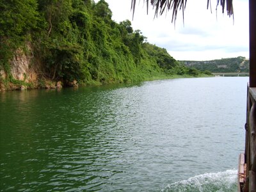
[{"label": "rippling green river water stretching from the bank to the boat", "polygon": [[236,191],[248,77],[0,93],[1,191]]}]

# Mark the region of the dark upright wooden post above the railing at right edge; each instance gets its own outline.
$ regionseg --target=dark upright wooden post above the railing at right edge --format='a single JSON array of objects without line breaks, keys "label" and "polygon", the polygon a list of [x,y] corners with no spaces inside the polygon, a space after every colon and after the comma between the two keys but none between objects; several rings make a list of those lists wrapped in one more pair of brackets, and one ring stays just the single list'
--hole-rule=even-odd
[{"label": "dark upright wooden post above the railing at right edge", "polygon": [[256,1],[249,0],[250,87],[256,87]]}]

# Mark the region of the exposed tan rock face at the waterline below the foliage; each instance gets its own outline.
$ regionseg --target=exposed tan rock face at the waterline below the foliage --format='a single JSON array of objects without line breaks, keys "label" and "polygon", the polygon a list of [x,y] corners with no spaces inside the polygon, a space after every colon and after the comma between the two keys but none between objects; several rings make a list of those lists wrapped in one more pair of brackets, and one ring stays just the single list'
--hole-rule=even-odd
[{"label": "exposed tan rock face at the waterline below the foliage", "polygon": [[[53,89],[63,87],[63,82],[52,81],[52,79],[42,76],[40,61],[34,58],[33,49],[29,44],[26,45],[26,52],[20,48],[17,49],[9,64],[10,74],[7,74],[7,72],[0,68],[0,92],[30,88]],[[10,76],[15,81],[11,81]],[[67,85],[78,86],[76,80],[67,83]]]}]

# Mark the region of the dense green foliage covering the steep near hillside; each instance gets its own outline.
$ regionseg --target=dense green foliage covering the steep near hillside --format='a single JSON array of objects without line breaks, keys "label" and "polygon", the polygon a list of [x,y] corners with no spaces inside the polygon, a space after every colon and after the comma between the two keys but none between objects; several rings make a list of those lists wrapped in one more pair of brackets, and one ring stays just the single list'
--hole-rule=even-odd
[{"label": "dense green foliage covering the steep near hillside", "polygon": [[3,0],[0,12],[0,70],[6,72],[15,50],[29,43],[42,79],[93,84],[201,74],[145,42],[129,20],[114,22],[104,0]]}]

